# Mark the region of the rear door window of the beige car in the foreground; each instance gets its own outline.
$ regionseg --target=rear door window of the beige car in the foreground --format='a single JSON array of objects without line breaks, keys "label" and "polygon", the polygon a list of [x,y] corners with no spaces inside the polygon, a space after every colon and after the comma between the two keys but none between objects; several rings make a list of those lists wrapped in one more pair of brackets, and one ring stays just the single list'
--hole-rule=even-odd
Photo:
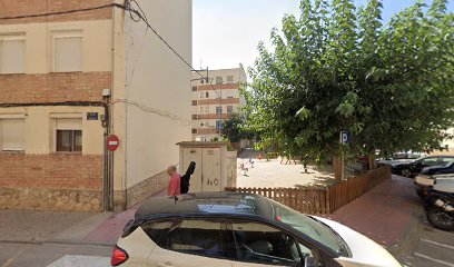
[{"label": "rear door window of the beige car in the foreground", "polygon": [[205,257],[228,258],[223,240],[221,222],[199,219],[182,220],[160,243],[160,247]]}]

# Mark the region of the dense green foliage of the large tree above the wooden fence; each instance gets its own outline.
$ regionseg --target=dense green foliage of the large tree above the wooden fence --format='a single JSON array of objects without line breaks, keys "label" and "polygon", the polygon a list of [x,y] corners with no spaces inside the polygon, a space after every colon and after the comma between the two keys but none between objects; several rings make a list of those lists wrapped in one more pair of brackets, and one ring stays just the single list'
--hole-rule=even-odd
[{"label": "dense green foliage of the large tree above the wooden fence", "polygon": [[[382,2],[303,0],[259,43],[243,90],[247,126],[315,158],[440,148],[454,125],[454,16],[416,2],[382,22]],[[353,136],[339,145],[339,131]]]}]

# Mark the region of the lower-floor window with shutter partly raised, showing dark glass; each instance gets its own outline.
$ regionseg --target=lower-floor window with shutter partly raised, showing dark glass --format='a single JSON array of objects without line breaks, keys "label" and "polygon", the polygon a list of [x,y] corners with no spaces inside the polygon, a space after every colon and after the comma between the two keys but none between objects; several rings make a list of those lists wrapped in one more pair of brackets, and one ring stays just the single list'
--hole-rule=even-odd
[{"label": "lower-floor window with shutter partly raised, showing dark glass", "polygon": [[82,119],[56,119],[56,151],[82,151]]}]

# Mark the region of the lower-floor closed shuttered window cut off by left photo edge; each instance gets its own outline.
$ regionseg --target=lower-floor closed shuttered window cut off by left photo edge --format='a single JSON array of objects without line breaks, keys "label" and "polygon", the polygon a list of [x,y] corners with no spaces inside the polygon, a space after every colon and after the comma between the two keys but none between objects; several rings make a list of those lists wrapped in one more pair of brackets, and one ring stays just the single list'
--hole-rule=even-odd
[{"label": "lower-floor closed shuttered window cut off by left photo edge", "polygon": [[26,150],[26,120],[0,119],[0,150]]}]

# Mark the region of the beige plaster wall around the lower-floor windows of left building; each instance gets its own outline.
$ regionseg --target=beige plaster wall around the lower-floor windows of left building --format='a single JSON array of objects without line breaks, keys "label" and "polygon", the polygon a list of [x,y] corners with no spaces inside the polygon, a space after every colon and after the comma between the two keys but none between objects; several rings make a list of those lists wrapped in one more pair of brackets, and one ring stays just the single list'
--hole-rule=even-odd
[{"label": "beige plaster wall around the lower-floor windows of left building", "polygon": [[82,119],[82,154],[103,155],[103,128],[100,120],[87,120],[87,112],[103,115],[101,107],[20,107],[0,108],[1,118],[24,118],[27,155],[55,152],[52,119]]}]

